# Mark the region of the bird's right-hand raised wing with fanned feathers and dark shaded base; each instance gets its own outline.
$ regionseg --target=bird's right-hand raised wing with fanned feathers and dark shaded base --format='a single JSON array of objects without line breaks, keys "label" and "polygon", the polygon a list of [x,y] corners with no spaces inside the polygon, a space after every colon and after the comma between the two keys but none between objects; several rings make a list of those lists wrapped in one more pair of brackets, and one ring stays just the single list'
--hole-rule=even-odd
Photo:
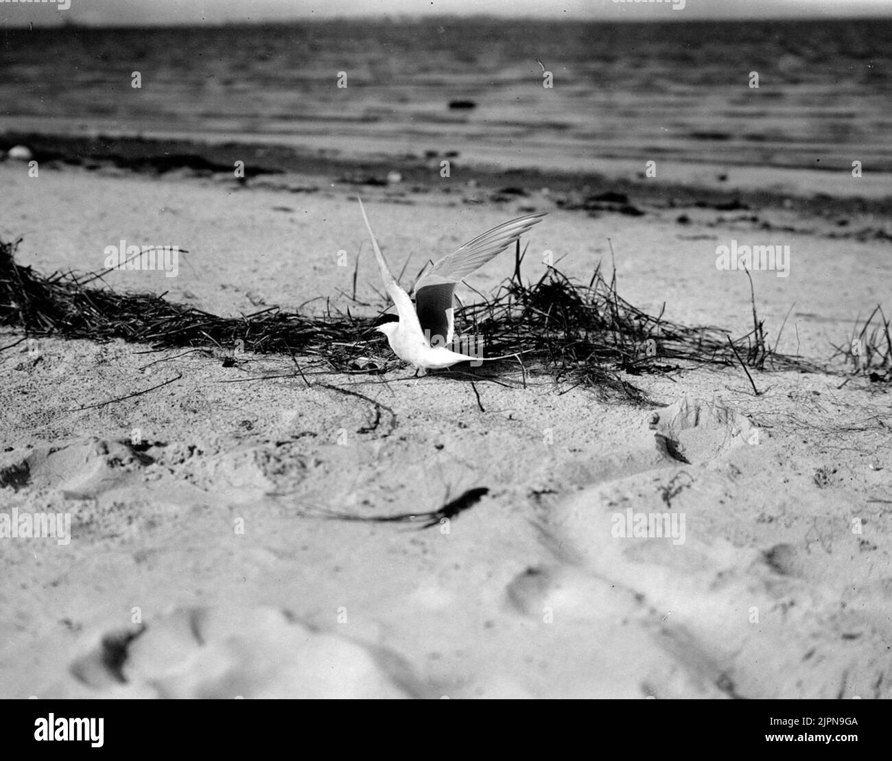
[{"label": "bird's right-hand raised wing with fanned feathers and dark shaded base", "polygon": [[455,286],[475,270],[513,245],[541,222],[545,212],[527,214],[468,241],[428,269],[415,284],[415,309],[422,331],[432,346],[450,343],[453,335]]}]

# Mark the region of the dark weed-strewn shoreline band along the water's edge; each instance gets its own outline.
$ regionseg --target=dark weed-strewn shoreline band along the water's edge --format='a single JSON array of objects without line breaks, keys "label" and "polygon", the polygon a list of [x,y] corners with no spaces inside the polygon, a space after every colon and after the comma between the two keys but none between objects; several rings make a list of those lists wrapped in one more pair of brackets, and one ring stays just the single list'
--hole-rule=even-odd
[{"label": "dark weed-strewn shoreline band along the water's edge", "polygon": [[[327,177],[335,183],[355,186],[387,186],[388,175],[397,172],[401,175],[399,184],[402,186],[445,194],[455,193],[469,184],[497,196],[521,195],[548,188],[549,194],[566,195],[568,211],[599,211],[574,202],[595,196],[594,203],[598,203],[599,194],[619,194],[662,209],[772,209],[816,218],[892,216],[892,175],[872,176],[857,186],[857,193],[853,187],[851,193],[838,194],[840,186],[837,182],[837,194],[832,194],[827,192],[827,180],[838,172],[745,166],[738,168],[740,176],[729,183],[733,170],[727,165],[709,162],[686,164],[689,175],[686,181],[666,182],[630,177],[628,161],[614,161],[613,170],[591,172],[523,167],[511,162],[503,166],[466,164],[456,151],[427,152],[431,155],[373,153],[373,158],[363,159],[359,154],[351,156],[336,150],[310,150],[266,139],[252,142],[250,139],[232,141],[207,136],[197,140],[133,134],[62,136],[12,130],[0,133],[0,151],[8,151],[13,145],[28,146],[36,161],[82,166],[88,170],[113,166],[135,173],[191,170],[199,176],[209,176],[232,174],[234,162],[244,161],[244,184],[250,185],[252,180],[263,178],[264,185],[272,189],[287,188],[288,178],[295,175]],[[440,162],[444,160],[450,161],[448,178],[441,176]],[[610,162],[606,162],[606,169],[609,165]],[[754,180],[747,182],[747,175],[752,175]],[[727,186],[729,184],[732,187]],[[760,189],[756,187],[758,185],[789,186],[789,191]],[[823,189],[818,190],[819,187]],[[500,199],[492,200],[498,202]]]}]

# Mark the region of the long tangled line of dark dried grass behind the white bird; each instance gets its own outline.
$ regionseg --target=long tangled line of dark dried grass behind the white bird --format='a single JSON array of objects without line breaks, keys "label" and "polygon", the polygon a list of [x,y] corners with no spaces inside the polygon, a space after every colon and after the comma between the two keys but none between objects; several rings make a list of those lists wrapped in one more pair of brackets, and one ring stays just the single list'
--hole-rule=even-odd
[{"label": "long tangled line of dark dried grass behind the white bird", "polygon": [[[156,350],[216,347],[230,356],[233,347],[244,342],[244,352],[300,357],[318,362],[322,372],[351,375],[382,372],[391,357],[384,337],[371,330],[374,317],[330,309],[310,315],[277,307],[219,317],[162,296],[121,294],[96,285],[105,272],[45,277],[14,261],[19,243],[0,242],[0,325],[21,328],[28,337],[121,338]],[[731,342],[721,328],[685,327],[635,308],[616,293],[615,276],[608,281],[600,266],[588,285],[554,268],[538,282],[524,285],[523,258],[518,244],[513,277],[490,298],[455,312],[460,332],[483,340],[484,356],[518,356],[450,376],[504,377],[513,366],[524,382],[529,374],[551,376],[561,384],[643,402],[644,393],[624,376],[739,362],[760,370],[821,369],[773,352],[755,308],[753,330]],[[358,359],[369,358],[376,360],[372,369],[354,369]]]}]

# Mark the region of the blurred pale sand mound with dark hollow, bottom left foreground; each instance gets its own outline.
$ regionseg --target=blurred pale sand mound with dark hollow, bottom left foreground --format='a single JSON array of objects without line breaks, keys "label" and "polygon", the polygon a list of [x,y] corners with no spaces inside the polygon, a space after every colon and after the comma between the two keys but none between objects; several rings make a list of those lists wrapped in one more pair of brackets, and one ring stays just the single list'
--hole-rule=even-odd
[{"label": "blurred pale sand mound with dark hollow, bottom left foreground", "polygon": [[96,697],[411,698],[401,658],[275,608],[178,608],[100,637],[70,668]]}]

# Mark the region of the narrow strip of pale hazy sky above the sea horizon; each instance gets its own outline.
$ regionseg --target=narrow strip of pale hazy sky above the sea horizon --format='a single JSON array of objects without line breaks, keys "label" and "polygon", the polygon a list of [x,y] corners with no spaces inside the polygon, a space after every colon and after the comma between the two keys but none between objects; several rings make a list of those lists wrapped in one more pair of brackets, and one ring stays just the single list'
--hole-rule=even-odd
[{"label": "narrow strip of pale hazy sky above the sea horizon", "polygon": [[[70,7],[61,10],[66,4]],[[892,16],[892,0],[0,0],[0,24],[9,26],[64,19],[91,24],[200,24],[472,13],[605,21]]]}]

